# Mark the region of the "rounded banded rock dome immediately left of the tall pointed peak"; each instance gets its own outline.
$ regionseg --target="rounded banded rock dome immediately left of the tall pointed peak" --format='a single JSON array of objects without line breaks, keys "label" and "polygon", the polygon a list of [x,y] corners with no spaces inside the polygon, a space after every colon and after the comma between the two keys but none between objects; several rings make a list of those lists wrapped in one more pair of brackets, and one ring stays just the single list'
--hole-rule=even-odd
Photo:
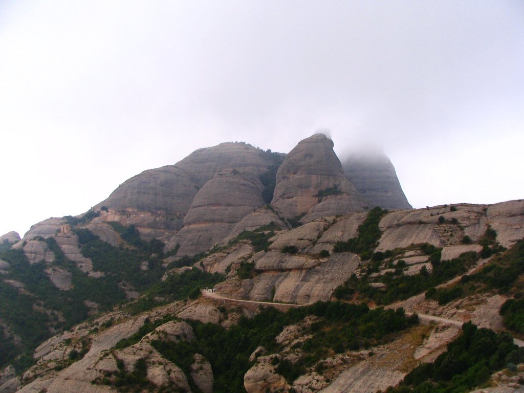
[{"label": "rounded banded rock dome immediately left of the tall pointed peak", "polygon": [[196,194],[180,232],[166,250],[180,244],[178,255],[194,255],[220,242],[246,215],[264,204],[263,185],[251,172],[223,170]]}]

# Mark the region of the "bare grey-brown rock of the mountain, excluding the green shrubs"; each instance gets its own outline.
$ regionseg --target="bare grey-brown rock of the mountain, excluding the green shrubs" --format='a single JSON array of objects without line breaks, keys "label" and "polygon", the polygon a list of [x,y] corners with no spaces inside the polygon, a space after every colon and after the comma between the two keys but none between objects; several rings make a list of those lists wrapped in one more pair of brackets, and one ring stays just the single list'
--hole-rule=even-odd
[{"label": "bare grey-brown rock of the mountain, excluding the green shrubs", "polygon": [[[73,221],[68,217],[49,219],[33,226],[21,241],[11,236],[16,243],[12,248],[23,253],[30,266],[44,266],[43,271],[60,292],[70,293],[75,276],[67,265],[60,265],[62,262],[57,260],[52,242],[49,243],[51,238],[65,260],[89,279],[102,280],[107,272],[94,270],[95,259],[84,256],[79,239],[85,233],[77,231],[89,230],[116,249],[139,247],[139,243],[129,243],[118,231],[118,226],[111,223],[113,221],[125,227],[134,225],[147,242],[154,238],[167,242],[166,252],[178,248],[176,256],[158,262],[164,267],[176,263],[182,255],[205,252],[214,246],[212,252],[192,261],[190,266],[167,271],[163,279],[169,281],[170,276],[193,268],[223,274],[225,280],[215,286],[216,293],[223,297],[220,299],[201,297],[155,307],[165,299],[160,296],[140,298],[138,304],[147,299],[153,305],[137,314],[122,307],[115,308],[62,332],[36,348],[37,363],[23,375],[16,376],[12,368],[5,368],[0,375],[0,391],[116,391],[117,376],[137,372],[140,362],[147,370],[145,379],[150,389],[193,391],[196,387],[204,392],[213,391],[213,366],[205,356],[195,353],[189,368],[182,369],[182,364],[166,358],[152,343],[157,339],[167,342],[194,340],[195,331],[184,320],[229,327],[242,315],[253,316],[267,301],[280,302],[280,308],[286,309],[291,307],[287,303],[333,300],[337,287],[353,275],[366,274],[369,267],[362,255],[335,252],[337,242],[358,236],[358,227],[367,216],[365,204],[379,201],[385,198],[384,195],[390,198],[383,199],[383,207],[386,203],[395,206],[407,203],[394,187],[392,179],[396,179],[396,175],[387,162],[378,168],[370,165],[366,170],[378,173],[375,179],[380,180],[376,183],[389,184],[386,187],[389,191],[369,184],[357,187],[347,179],[351,179],[351,171],[342,169],[332,147],[333,143],[323,135],[301,141],[275,174],[271,205],[266,205],[264,200],[264,192],[270,187],[264,175],[276,170],[275,157],[246,144],[228,143],[197,150],[175,166],[146,171],[129,179],[110,198],[84,215],[85,219],[82,216],[72,217],[76,219]],[[282,159],[280,156],[279,160]],[[374,175],[369,177],[374,178]],[[185,191],[170,196],[178,192],[179,186]],[[298,219],[302,225],[292,228],[291,224],[298,225]],[[443,261],[465,252],[479,254],[483,250],[479,243],[491,228],[496,231],[496,242],[511,247],[524,238],[524,202],[464,203],[396,210],[384,214],[378,227],[380,237],[375,252],[397,249],[398,255],[391,258],[388,266],[380,265],[369,277],[411,276],[419,274],[423,268],[431,272],[430,256],[422,252],[422,243],[441,247]],[[266,241],[264,247],[258,247],[253,241],[260,238]],[[464,244],[465,238],[469,239],[467,244]],[[467,274],[488,262],[489,258],[479,259]],[[9,276],[12,265],[0,260],[0,274],[5,276],[0,276],[2,282],[16,288],[20,294],[31,295],[30,287]],[[155,268],[152,261],[142,261],[139,266],[144,274]],[[458,279],[460,277],[455,278],[455,282]],[[121,282],[119,285],[128,284]],[[383,282],[372,285],[387,288]],[[253,303],[240,303],[235,299]],[[507,299],[505,294],[487,292],[439,304],[425,299],[421,293],[388,307],[453,319],[456,324],[473,321],[499,331],[504,326],[498,310]],[[92,313],[96,312],[98,304],[90,300],[85,302],[90,304]],[[34,308],[53,315],[37,302]],[[166,316],[172,319],[138,341],[124,347],[115,346],[120,340],[129,339],[142,326]],[[278,356],[290,363],[296,362],[300,355],[297,344],[308,340],[305,332],[314,323],[313,318],[285,326],[276,338],[281,348]],[[244,387],[249,393],[282,389],[301,393],[384,390],[397,384],[418,362],[433,361],[460,333],[456,324],[426,323],[429,324],[414,326],[381,346],[358,351],[346,348],[341,353],[330,353],[321,363],[306,368],[293,380],[277,372],[276,353],[257,348],[250,358],[252,365],[244,375]],[[2,319],[0,326],[0,333],[12,334]],[[492,390],[521,389],[519,377],[524,377],[521,368],[516,377],[513,374],[507,377],[504,373],[494,375],[493,384],[499,387]]]}]

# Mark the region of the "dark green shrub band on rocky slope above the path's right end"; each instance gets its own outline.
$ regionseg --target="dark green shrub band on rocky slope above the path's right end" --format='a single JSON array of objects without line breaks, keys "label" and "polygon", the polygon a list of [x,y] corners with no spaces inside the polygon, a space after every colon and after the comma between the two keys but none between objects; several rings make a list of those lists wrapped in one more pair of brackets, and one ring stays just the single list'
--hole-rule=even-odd
[{"label": "dark green shrub band on rocky slope above the path's right end", "polygon": [[[430,255],[430,261],[433,267],[431,273],[428,272],[427,269],[421,269],[419,274],[404,276],[401,274],[401,271],[399,271],[401,267],[401,265],[399,265],[395,272],[388,272],[374,279],[375,282],[385,283],[386,289],[378,289],[369,285],[366,275],[361,278],[352,275],[342,286],[335,289],[333,292],[334,296],[337,299],[350,300],[355,294],[358,294],[358,298],[360,299],[374,300],[377,304],[390,304],[396,300],[408,299],[411,296],[428,290],[431,287],[436,287],[464,273],[469,267],[473,266],[478,259],[475,252],[468,252],[461,254],[455,259],[441,261],[440,248],[436,248],[430,244],[423,244],[420,248],[425,254]],[[373,265],[373,261],[369,264],[370,267],[376,267],[376,265]],[[368,274],[375,270],[378,270],[378,268],[369,269]],[[430,296],[432,296],[432,292],[430,292]],[[451,299],[451,295],[456,293],[457,292],[447,293],[446,296]],[[433,294],[433,296],[436,296],[436,294]],[[443,295],[442,300],[444,300],[444,297]]]}]

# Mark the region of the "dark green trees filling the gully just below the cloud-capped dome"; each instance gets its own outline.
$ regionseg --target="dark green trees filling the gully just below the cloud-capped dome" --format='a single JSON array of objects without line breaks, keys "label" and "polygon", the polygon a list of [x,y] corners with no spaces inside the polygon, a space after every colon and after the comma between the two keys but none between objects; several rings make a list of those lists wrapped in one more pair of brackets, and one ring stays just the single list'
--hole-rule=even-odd
[{"label": "dark green trees filling the gully just below the cloud-capped dome", "polygon": [[370,210],[366,220],[358,226],[358,237],[352,237],[346,242],[336,242],[333,252],[361,254],[363,260],[369,259],[380,239],[381,232],[378,223],[386,213],[387,210],[378,207]]}]

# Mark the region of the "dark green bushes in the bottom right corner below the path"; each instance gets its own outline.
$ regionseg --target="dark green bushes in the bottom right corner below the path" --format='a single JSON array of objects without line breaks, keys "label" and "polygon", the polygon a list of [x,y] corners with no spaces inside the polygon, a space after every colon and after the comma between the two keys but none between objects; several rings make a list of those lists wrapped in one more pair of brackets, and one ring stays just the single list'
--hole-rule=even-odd
[{"label": "dark green bushes in the bottom right corner below the path", "polygon": [[411,370],[396,388],[388,393],[459,393],[485,383],[490,375],[508,363],[524,361],[508,333],[477,329],[471,322],[462,325],[462,334],[447,345],[447,351],[433,363]]}]

